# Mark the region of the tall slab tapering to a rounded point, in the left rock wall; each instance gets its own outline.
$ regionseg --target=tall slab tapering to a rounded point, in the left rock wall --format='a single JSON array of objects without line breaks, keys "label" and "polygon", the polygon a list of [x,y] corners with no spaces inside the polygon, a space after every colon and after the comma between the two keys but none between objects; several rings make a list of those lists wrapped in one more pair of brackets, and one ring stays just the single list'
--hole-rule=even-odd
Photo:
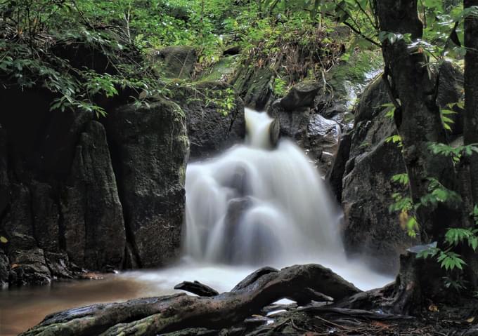
[{"label": "tall slab tapering to a rounded point, in the left rock wall", "polygon": [[91,121],[82,133],[63,203],[65,245],[75,264],[120,268],[126,234],[105,130]]}]

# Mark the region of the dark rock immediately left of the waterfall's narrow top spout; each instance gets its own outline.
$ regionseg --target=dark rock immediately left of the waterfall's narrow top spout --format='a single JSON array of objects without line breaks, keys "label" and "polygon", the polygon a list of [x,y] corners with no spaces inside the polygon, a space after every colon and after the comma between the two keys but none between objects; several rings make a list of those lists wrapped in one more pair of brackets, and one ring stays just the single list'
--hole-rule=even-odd
[{"label": "dark rock immediately left of the waterfall's narrow top spout", "polygon": [[[224,115],[214,102],[208,102],[203,98],[210,96],[221,99],[228,94],[228,89],[231,87],[225,83],[205,82],[195,88],[181,88],[176,93],[174,98],[186,114],[190,159],[204,159],[217,155],[221,150],[243,141],[245,136],[243,101],[234,97],[235,107]],[[198,99],[192,99],[194,96],[198,96]]]}]

